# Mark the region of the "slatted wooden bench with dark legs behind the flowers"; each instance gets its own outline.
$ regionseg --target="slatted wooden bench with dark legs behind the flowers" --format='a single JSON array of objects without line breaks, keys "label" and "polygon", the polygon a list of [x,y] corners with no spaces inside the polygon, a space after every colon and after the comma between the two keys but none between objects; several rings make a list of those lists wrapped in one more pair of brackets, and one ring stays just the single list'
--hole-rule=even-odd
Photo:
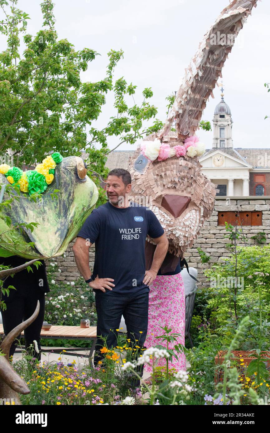
[{"label": "slatted wooden bench with dark legs behind the flowers", "polygon": [[[0,325],[0,335],[3,335],[3,325]],[[21,336],[24,335],[24,332],[22,332]],[[50,330],[41,330],[40,338],[47,338],[47,339],[68,339],[68,340],[91,340],[92,344],[89,349],[89,356],[86,355],[80,355],[79,353],[71,353],[71,352],[65,352],[65,355],[80,355],[84,358],[89,359],[89,364],[91,368],[94,368],[92,363],[92,356],[94,353],[94,346],[97,342],[97,328],[96,326],[90,326],[89,328],[81,328],[80,326],[61,326],[61,325],[52,325]],[[65,348],[63,348],[65,350]],[[54,353],[60,353],[63,351],[63,349],[42,349],[42,352],[54,352]],[[76,347],[76,348],[67,348],[70,350],[87,350],[85,347]],[[16,349],[16,352],[21,352],[20,348],[18,350]]]}]

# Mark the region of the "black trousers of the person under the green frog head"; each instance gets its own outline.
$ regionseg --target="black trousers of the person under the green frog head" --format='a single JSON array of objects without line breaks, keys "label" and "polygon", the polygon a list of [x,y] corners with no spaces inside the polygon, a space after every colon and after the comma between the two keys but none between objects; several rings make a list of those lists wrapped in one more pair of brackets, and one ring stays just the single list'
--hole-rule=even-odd
[{"label": "black trousers of the person under the green frog head", "polygon": [[[10,289],[10,291],[13,289]],[[18,291],[19,292],[19,291]],[[24,330],[24,339],[26,349],[29,349],[30,344],[33,345],[33,352],[31,348],[31,353],[33,356],[40,360],[40,331],[42,328],[42,323],[44,320],[45,313],[45,294],[39,292],[36,296],[23,296],[23,290],[20,291],[20,294],[16,292],[13,300],[7,303],[7,310],[1,311],[2,319],[3,319],[3,328],[4,333],[7,335],[15,326],[19,325],[23,320],[29,319],[30,316],[36,310],[36,304],[39,300],[40,309],[39,315],[36,320],[33,321],[25,330]],[[20,338],[20,335],[17,336]],[[36,352],[34,348],[33,340],[36,340],[39,348],[39,353]],[[15,349],[17,346],[17,341],[15,340],[10,347],[10,356],[14,355]]]}]

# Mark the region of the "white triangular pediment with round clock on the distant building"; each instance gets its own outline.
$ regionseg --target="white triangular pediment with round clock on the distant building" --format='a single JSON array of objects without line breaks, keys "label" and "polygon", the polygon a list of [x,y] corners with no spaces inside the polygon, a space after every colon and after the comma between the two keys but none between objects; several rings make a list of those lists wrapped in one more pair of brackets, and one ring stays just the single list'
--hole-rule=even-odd
[{"label": "white triangular pediment with round clock on the distant building", "polygon": [[250,164],[217,149],[199,158],[203,168],[252,168]]}]

